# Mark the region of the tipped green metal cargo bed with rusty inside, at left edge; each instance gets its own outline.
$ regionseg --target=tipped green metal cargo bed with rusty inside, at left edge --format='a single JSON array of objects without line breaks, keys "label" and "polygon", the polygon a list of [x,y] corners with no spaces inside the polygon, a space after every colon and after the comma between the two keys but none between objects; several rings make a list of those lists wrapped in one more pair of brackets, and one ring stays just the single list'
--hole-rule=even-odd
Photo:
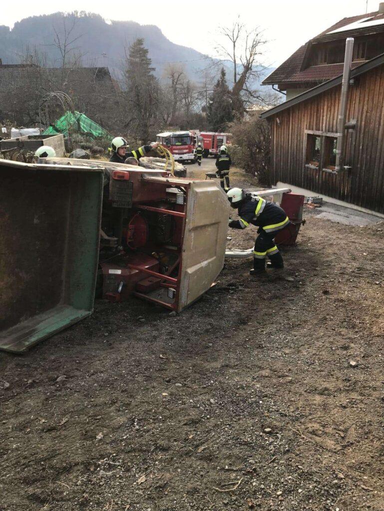
[{"label": "tipped green metal cargo bed with rusty inside, at left edge", "polygon": [[102,169],[0,160],[1,350],[92,313],[102,189]]}]

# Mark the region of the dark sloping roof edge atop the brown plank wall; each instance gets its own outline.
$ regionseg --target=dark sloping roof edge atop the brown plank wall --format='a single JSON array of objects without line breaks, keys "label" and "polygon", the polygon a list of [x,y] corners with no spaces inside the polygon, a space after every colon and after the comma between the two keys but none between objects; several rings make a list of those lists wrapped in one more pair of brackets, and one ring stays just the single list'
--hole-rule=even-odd
[{"label": "dark sloping roof edge atop the brown plank wall", "polygon": [[[378,55],[374,59],[371,59],[368,62],[365,62],[364,64],[360,64],[359,66],[352,69],[351,78],[355,78],[359,75],[367,73],[368,71],[371,71],[371,69],[374,69],[382,64],[384,64],[384,53],[382,53],[381,55]],[[307,99],[318,96],[319,94],[322,94],[322,92],[329,90],[333,87],[336,87],[336,85],[340,85],[342,83],[342,79],[343,79],[343,73],[341,75],[339,75],[338,77],[333,78],[332,80],[328,80],[327,82],[321,83],[320,85],[313,87],[312,89],[306,90],[305,92],[303,92],[303,94],[299,94],[299,95],[295,96],[294,98],[292,98],[288,101],[285,101],[284,103],[281,103],[278,106],[274,106],[273,108],[270,108],[266,112],[263,112],[262,114],[260,114],[260,118],[268,119],[268,117],[271,117],[271,115],[279,113],[283,110],[287,110],[288,108],[291,108],[292,106],[297,105],[298,103],[302,103],[303,101],[306,101]]]}]

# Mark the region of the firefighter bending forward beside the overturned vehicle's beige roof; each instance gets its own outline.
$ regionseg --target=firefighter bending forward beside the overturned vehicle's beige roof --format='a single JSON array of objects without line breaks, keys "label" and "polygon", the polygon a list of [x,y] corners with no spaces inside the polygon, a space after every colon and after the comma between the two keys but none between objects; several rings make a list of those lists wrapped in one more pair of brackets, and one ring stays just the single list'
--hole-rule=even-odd
[{"label": "firefighter bending forward beside the overturned vehicle's beige roof", "polygon": [[231,207],[238,209],[240,220],[229,219],[229,227],[245,229],[251,223],[259,227],[253,250],[253,270],[251,275],[265,274],[265,258],[268,256],[269,268],[284,268],[283,258],[276,247],[274,238],[281,229],[289,225],[285,211],[258,195],[245,193],[240,188],[227,192]]}]

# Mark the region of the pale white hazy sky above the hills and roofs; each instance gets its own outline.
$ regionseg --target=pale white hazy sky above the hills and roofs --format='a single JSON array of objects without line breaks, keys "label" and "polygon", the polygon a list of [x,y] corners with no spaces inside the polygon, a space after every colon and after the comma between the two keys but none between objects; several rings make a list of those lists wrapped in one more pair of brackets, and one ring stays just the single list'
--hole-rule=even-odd
[{"label": "pale white hazy sky above the hills and roofs", "polygon": [[[0,25],[12,27],[28,16],[51,14],[57,10],[91,11],[105,19],[133,20],[141,25],[157,25],[171,41],[210,56],[220,42],[220,27],[230,26],[240,15],[249,29],[260,26],[269,40],[264,64],[277,66],[308,39],[347,16],[364,14],[367,0],[221,0],[188,2],[161,0],[98,3],[94,0],[31,2],[3,0]],[[118,6],[121,5],[121,8]],[[368,0],[368,12],[378,9],[379,0]],[[178,7],[179,6],[179,7]],[[1,49],[0,49],[1,52]],[[0,55],[1,56],[1,55]]]}]

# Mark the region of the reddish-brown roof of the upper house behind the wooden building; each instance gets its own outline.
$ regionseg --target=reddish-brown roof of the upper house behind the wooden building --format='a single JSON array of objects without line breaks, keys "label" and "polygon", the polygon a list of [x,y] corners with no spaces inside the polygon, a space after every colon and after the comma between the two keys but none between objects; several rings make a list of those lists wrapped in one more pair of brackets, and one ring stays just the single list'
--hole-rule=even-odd
[{"label": "reddish-brown roof of the upper house behind the wooden building", "polygon": [[[313,39],[307,41],[305,44],[303,44],[302,47],[300,47],[298,50],[295,51],[283,64],[281,64],[277,69],[275,69],[267,78],[265,78],[262,81],[263,85],[274,85],[278,83],[297,83],[297,82],[317,82],[317,81],[326,81],[330,80],[331,78],[334,78],[338,76],[339,74],[339,68],[337,66],[341,66],[343,68],[343,64],[327,64],[327,65],[321,65],[321,66],[311,66],[307,69],[304,69],[302,71],[303,62],[305,59],[305,56],[307,54],[307,50],[309,50],[309,47],[312,43],[322,42],[326,40],[336,40],[340,38],[346,37],[346,35],[349,33],[349,31],[338,33],[338,34],[330,34],[330,32],[340,29],[342,27],[348,26],[355,21],[358,21],[359,19],[364,18],[372,18],[376,17],[381,18],[383,17],[382,14],[379,14],[377,11],[369,13],[369,14],[360,14],[358,16],[351,16],[349,18],[343,18],[331,27],[329,27],[327,30],[322,32],[321,34],[317,35]],[[383,27],[361,27],[361,29],[358,29],[360,32],[365,31],[377,31],[382,30]],[[355,31],[356,29],[354,29]],[[354,63],[355,66],[360,65],[360,62]]]}]

